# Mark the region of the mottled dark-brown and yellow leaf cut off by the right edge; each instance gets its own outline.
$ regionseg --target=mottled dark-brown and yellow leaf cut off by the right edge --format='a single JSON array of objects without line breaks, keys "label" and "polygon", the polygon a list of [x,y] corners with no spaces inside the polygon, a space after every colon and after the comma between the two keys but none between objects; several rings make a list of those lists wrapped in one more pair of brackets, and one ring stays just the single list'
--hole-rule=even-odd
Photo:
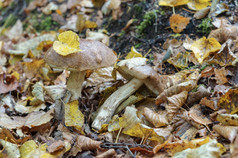
[{"label": "mottled dark-brown and yellow leaf cut off by the right edge", "polygon": [[238,88],[230,89],[218,101],[218,107],[221,109],[226,109],[230,114],[235,114],[238,112]]}]

